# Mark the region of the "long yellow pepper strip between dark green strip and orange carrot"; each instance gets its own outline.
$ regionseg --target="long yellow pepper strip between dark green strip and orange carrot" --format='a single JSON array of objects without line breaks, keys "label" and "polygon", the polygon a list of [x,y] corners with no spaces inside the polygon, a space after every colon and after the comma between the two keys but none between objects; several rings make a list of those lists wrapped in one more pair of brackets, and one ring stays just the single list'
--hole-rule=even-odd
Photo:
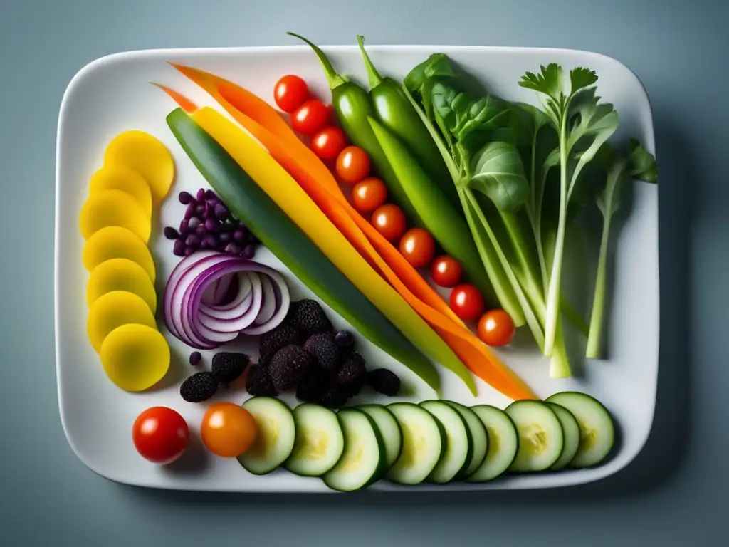
[{"label": "long yellow pepper strip between dark green strip and orange carrot", "polygon": [[448,344],[352,247],[286,170],[252,137],[206,106],[191,115],[269,197],[281,207],[373,305],[432,360],[456,373],[472,394],[476,385]]}]

